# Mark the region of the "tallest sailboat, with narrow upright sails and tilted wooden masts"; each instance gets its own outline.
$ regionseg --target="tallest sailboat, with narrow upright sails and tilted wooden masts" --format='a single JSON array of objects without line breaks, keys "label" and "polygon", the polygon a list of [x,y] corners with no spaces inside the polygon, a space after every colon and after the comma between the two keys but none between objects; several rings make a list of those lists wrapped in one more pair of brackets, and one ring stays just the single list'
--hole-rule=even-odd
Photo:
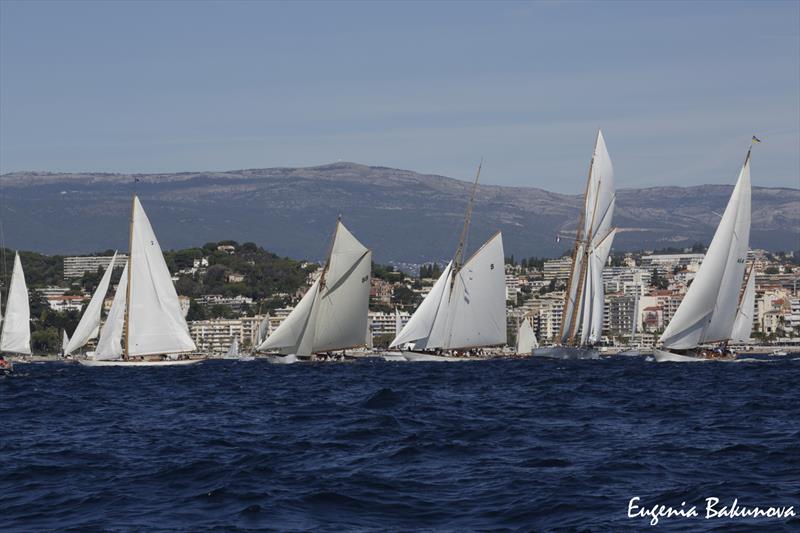
[{"label": "tallest sailboat, with narrow upright sails and tilted wooden masts", "polygon": [[614,167],[603,132],[598,130],[572,252],[572,271],[564,293],[561,346],[543,348],[534,355],[598,357],[593,347],[600,341],[603,330],[603,267],[616,233],[611,226],[615,201]]}]

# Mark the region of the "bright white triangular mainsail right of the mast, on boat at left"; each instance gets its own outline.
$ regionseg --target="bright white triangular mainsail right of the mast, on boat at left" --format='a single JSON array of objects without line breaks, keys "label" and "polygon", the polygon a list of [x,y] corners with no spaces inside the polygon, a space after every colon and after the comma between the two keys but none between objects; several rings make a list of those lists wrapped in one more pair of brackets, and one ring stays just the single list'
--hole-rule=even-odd
[{"label": "bright white triangular mainsail right of the mast, on boat at left", "polygon": [[128,355],[196,350],[161,247],[138,197],[133,199],[130,268]]}]

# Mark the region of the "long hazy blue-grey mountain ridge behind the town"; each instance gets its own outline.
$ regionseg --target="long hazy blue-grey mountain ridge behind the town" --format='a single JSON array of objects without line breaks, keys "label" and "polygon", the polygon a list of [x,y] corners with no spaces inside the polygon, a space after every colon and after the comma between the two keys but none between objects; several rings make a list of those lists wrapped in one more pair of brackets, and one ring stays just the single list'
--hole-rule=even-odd
[{"label": "long hazy blue-grey mountain ridge behind the town", "polygon": [[[619,190],[614,249],[708,243],[733,181]],[[165,249],[232,239],[322,259],[341,214],[376,261],[411,263],[452,256],[471,187],[355,163],[146,175],[16,172],[0,176],[0,184],[5,245],[13,248],[62,254],[127,249],[135,186]],[[574,234],[582,192],[481,185],[468,253],[501,230],[506,255],[560,255],[571,247],[565,235]],[[753,188],[751,245],[800,248],[800,190]]]}]

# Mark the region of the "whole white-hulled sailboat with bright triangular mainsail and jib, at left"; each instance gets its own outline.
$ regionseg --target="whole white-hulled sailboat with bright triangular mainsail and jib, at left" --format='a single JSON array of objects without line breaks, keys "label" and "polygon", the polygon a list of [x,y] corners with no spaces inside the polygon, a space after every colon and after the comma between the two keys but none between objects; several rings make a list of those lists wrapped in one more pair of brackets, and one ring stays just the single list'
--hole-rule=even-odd
[{"label": "whole white-hulled sailboat with bright triangular mainsail and jib, at left", "polygon": [[[97,350],[92,359],[80,362],[87,366],[197,363],[197,359],[170,359],[197,348],[189,335],[178,294],[150,220],[136,195],[131,204],[128,261],[100,330]],[[87,329],[89,325],[91,323],[87,323]]]}]

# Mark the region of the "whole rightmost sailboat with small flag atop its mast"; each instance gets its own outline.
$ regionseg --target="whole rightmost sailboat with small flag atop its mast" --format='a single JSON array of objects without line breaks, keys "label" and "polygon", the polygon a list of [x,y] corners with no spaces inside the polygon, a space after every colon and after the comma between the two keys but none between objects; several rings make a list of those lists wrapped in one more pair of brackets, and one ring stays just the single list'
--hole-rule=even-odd
[{"label": "whole rightmost sailboat with small flag atop its mast", "polygon": [[[750,241],[750,151],[703,263],[659,339],[661,348],[653,350],[658,362],[732,359],[728,341],[750,334],[747,328],[752,328],[755,301],[752,275],[742,291]],[[748,316],[749,326],[745,324]],[[714,344],[719,346],[701,347]]]}]

